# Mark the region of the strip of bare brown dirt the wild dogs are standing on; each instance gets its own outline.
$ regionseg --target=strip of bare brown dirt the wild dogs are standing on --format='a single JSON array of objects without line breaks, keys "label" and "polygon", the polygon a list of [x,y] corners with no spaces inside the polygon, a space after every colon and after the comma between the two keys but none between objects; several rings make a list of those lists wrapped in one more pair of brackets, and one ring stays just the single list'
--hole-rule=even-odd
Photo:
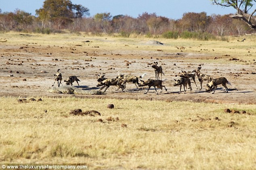
[{"label": "strip of bare brown dirt the wild dogs are standing on", "polygon": [[[20,35],[22,38],[22,35]],[[132,98],[146,100],[188,100],[193,102],[215,103],[247,103],[256,104],[256,85],[254,74],[255,61],[239,62],[229,61],[230,56],[212,55],[207,51],[193,51],[193,44],[189,50],[177,49],[176,52],[162,50],[161,45],[134,42],[121,42],[108,39],[81,39],[70,40],[67,44],[48,45],[47,43],[35,43],[29,37],[24,42],[13,43],[7,38],[0,42],[0,96],[77,96],[84,98]],[[74,42],[73,42],[74,41]],[[97,42],[97,43],[96,43]],[[101,43],[98,43],[101,42]],[[104,47],[104,44],[118,44],[115,48]],[[128,45],[127,45],[128,44]],[[153,50],[147,50],[151,46]],[[164,47],[164,46],[163,46]],[[164,47],[166,48],[166,46]],[[170,47],[175,48],[175,47]],[[255,57],[255,52],[252,57]],[[215,58],[215,59],[214,59]],[[256,59],[256,57],[255,57]],[[241,59],[240,59],[241,60]],[[133,84],[126,85],[126,91],[120,92],[116,87],[107,89],[104,95],[73,95],[57,94],[47,90],[52,88],[54,76],[60,68],[63,80],[68,76],[76,75],[81,80],[80,88],[84,90],[99,89],[96,74],[105,75],[106,78],[115,78],[118,71],[122,74],[133,74],[143,78],[155,78],[155,72],[151,64],[157,61],[161,65],[167,79],[163,85],[168,91],[163,90],[157,95],[151,88],[147,94],[145,90],[135,90]],[[216,61],[216,62],[215,62]],[[239,63],[238,63],[239,62]],[[241,64],[240,64],[241,63]],[[232,86],[228,85],[229,93],[223,93],[224,88],[218,86],[215,94],[197,90],[195,84],[191,84],[193,90],[178,94],[179,87],[174,87],[174,80],[181,70],[192,71],[201,64],[201,72],[212,75],[213,78],[224,76]],[[46,71],[43,73],[42,71]],[[177,76],[177,77],[176,77]],[[199,81],[196,77],[199,87]],[[62,82],[62,84],[65,84]],[[76,82],[73,83],[77,86]],[[57,83],[54,85],[57,86]],[[78,87],[78,86],[77,86]],[[147,87],[145,87],[147,88]],[[159,89],[157,89],[160,92]]]}]

